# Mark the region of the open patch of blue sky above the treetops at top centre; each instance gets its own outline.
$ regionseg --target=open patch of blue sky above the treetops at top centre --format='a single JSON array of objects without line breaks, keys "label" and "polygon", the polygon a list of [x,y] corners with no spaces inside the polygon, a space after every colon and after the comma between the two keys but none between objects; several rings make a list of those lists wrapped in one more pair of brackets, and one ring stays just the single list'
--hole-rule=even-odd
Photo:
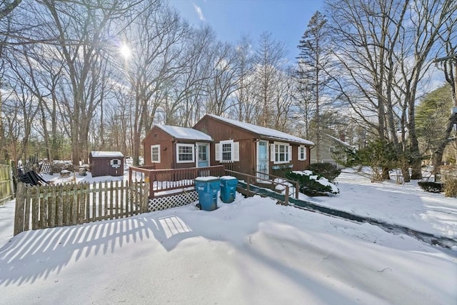
[{"label": "open patch of blue sky above the treetops at top centre", "polygon": [[323,0],[169,0],[194,26],[209,24],[221,41],[236,42],[247,35],[256,46],[260,35],[270,32],[298,56],[298,41],[311,16],[323,10]]}]

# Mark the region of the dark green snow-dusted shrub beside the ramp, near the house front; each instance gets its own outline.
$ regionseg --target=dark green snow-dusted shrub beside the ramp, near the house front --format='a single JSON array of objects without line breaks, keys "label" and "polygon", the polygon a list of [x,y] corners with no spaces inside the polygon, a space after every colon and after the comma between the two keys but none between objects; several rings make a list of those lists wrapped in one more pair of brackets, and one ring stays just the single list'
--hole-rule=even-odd
[{"label": "dark green snow-dusted shrub beside the ramp, near the house front", "polygon": [[335,184],[313,171],[288,171],[286,177],[297,181],[300,192],[307,196],[330,196],[340,192]]}]

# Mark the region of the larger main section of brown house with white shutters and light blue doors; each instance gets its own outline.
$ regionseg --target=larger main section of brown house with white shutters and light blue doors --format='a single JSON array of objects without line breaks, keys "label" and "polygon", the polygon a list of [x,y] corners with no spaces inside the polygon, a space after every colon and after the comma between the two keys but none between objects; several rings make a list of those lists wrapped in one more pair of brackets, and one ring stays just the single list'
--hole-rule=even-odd
[{"label": "larger main section of brown house with white shutters and light blue doors", "polygon": [[206,114],[194,129],[209,134],[211,165],[233,162],[233,170],[266,178],[309,165],[313,142],[281,131]]}]

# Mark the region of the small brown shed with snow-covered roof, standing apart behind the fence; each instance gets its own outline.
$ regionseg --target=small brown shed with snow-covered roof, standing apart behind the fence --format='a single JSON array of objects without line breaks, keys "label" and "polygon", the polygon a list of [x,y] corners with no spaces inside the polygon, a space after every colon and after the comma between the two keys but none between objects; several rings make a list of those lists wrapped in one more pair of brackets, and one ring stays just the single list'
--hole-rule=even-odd
[{"label": "small brown shed with snow-covered roof, standing apart behind the fence", "polygon": [[124,155],[120,151],[91,151],[89,164],[93,177],[124,175]]}]

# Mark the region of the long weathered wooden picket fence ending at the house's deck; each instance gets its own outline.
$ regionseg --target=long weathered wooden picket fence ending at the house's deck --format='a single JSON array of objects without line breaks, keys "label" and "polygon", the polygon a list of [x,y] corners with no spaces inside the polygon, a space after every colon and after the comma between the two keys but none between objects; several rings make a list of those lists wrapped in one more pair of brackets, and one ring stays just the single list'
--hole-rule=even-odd
[{"label": "long weathered wooden picket fence ending at the house's deck", "polygon": [[119,219],[148,211],[148,184],[107,181],[99,184],[29,186],[16,191],[14,235],[30,229]]}]

